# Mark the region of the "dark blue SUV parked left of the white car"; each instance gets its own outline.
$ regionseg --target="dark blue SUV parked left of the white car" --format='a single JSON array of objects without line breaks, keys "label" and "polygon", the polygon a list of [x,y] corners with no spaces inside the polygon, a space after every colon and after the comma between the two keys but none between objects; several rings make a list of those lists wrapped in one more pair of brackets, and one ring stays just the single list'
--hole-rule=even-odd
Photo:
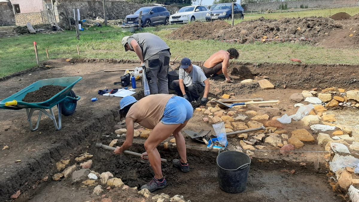
[{"label": "dark blue SUV parked left of the white car", "polygon": [[138,19],[142,11],[141,26],[150,27],[158,24],[169,24],[169,12],[163,6],[142,7],[134,14],[127,15],[125,24],[139,24]]}]

